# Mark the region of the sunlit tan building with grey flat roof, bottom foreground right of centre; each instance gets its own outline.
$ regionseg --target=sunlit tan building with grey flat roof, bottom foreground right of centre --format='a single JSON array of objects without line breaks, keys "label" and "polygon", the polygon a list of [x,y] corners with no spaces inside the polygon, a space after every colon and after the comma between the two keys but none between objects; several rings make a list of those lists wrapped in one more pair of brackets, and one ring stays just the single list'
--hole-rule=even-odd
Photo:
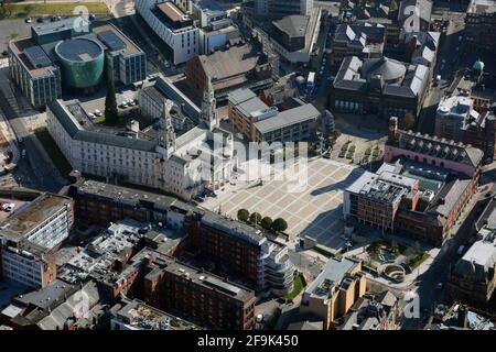
[{"label": "sunlit tan building with grey flat roof, bottom foreground right of centre", "polygon": [[300,304],[301,314],[313,314],[324,320],[324,330],[335,329],[336,320],[345,316],[364,296],[366,277],[362,262],[330,258],[319,276],[305,288]]}]

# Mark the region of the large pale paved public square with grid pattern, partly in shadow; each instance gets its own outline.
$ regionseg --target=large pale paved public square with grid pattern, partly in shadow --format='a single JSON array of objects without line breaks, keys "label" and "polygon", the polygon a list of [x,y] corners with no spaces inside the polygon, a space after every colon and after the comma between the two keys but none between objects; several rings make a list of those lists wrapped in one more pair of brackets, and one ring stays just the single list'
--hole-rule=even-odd
[{"label": "large pale paved public square with grid pattern, partly in shadow", "polygon": [[310,235],[331,249],[341,248],[343,189],[364,169],[325,158],[309,161],[308,168],[299,174],[298,169],[298,182],[272,176],[261,185],[248,186],[248,182],[235,180],[236,186],[226,185],[216,198],[208,198],[202,206],[214,211],[220,208],[231,218],[241,208],[260,212],[262,217],[283,218],[291,239]]}]

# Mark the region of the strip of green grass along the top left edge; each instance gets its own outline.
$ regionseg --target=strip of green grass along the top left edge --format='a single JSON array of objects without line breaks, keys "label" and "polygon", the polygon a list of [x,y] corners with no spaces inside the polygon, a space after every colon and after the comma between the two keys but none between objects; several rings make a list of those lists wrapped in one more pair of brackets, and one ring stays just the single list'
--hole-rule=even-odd
[{"label": "strip of green grass along the top left edge", "polygon": [[56,2],[56,3],[10,3],[6,6],[6,12],[10,16],[39,16],[43,14],[78,14],[74,9],[85,6],[89,13],[109,14],[108,8],[103,2]]}]

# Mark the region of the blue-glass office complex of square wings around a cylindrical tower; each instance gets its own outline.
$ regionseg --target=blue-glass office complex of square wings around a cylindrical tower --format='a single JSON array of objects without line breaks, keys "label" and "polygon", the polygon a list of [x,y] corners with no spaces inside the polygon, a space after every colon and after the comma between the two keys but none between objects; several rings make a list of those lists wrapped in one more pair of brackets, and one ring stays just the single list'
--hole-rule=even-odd
[{"label": "blue-glass office complex of square wings around a cylindrical tower", "polygon": [[34,107],[61,98],[63,87],[95,90],[103,81],[105,61],[122,85],[147,76],[145,54],[122,32],[112,24],[84,23],[73,18],[36,24],[31,37],[9,43],[11,77]]}]

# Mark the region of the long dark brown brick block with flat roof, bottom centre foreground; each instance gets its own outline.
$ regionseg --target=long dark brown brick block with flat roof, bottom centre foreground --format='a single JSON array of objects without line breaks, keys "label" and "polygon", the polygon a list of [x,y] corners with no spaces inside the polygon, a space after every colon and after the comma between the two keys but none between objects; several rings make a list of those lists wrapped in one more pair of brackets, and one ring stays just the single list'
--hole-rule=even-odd
[{"label": "long dark brown brick block with flat roof, bottom centre foreground", "polygon": [[252,290],[149,250],[143,254],[147,263],[144,301],[179,317],[188,317],[206,329],[248,330],[254,327],[256,298]]}]

